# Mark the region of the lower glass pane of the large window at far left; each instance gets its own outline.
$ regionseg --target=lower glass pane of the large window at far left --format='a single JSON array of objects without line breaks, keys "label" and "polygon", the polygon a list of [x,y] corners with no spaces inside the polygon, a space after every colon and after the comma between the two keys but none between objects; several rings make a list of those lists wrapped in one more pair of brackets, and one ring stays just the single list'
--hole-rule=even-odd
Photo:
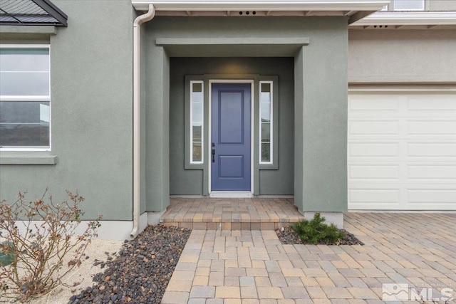
[{"label": "lower glass pane of the large window at far left", "polygon": [[49,102],[1,101],[1,147],[48,147]]}]

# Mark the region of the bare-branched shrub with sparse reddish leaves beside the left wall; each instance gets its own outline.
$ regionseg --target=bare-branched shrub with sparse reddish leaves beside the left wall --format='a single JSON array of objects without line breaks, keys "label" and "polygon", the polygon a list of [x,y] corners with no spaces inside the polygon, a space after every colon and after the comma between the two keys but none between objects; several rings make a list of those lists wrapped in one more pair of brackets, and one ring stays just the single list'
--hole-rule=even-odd
[{"label": "bare-branched shrub with sparse reddish leaves beside the left wall", "polygon": [[0,267],[3,298],[26,301],[50,292],[81,265],[88,244],[98,236],[101,215],[76,230],[83,215],[79,208],[83,196],[67,191],[68,201],[54,203],[52,196],[44,201],[46,192],[36,201],[26,201],[19,192],[14,204],[0,203],[0,237],[6,240],[0,251],[15,256],[13,263]]}]

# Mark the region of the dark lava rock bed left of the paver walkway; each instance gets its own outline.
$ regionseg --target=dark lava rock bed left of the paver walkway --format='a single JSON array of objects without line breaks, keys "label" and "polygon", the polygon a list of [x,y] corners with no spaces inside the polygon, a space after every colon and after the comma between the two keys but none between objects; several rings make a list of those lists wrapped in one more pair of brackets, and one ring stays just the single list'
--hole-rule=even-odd
[{"label": "dark lava rock bed left of the paver walkway", "polygon": [[148,226],[125,241],[115,258],[95,261],[94,266],[105,264],[104,273],[68,303],[160,303],[189,236],[188,229]]}]

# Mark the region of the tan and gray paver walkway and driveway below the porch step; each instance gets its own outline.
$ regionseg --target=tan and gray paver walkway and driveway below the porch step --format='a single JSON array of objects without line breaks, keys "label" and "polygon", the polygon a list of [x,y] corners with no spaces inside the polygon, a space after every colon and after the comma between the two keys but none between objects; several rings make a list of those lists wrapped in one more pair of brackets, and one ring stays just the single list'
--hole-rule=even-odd
[{"label": "tan and gray paver walkway and driveway below the porch step", "polygon": [[274,231],[194,230],[162,303],[384,303],[382,283],[456,295],[456,214],[347,213],[344,228],[365,246],[282,245]]}]

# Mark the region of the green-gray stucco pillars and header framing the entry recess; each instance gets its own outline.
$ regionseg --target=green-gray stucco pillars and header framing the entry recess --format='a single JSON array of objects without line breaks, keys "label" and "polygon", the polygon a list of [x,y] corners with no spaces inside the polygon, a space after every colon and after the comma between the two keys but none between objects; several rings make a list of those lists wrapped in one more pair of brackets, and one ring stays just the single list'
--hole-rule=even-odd
[{"label": "green-gray stucco pillars and header framing the entry recess", "polygon": [[[155,17],[145,23],[142,64],[146,71],[142,84],[146,107],[146,210],[165,209],[169,204],[170,177],[177,176],[175,164],[171,174],[169,164],[170,153],[171,159],[175,157],[170,152],[170,142],[171,149],[177,145],[167,132],[170,118],[172,123],[177,119],[175,113],[170,116],[169,90],[182,90],[182,83],[180,88],[169,85],[170,57],[294,56],[295,204],[301,211],[345,211],[347,32],[346,17]],[[281,45],[279,41],[286,38],[309,38],[310,42]],[[264,42],[255,44],[251,40]],[[171,135],[175,136],[174,132]],[[176,166],[183,168],[184,162],[180,163]],[[180,177],[184,184],[190,175]],[[197,177],[197,181],[201,180]],[[197,184],[197,188],[201,186]],[[181,189],[187,191],[185,187]],[[176,188],[172,186],[172,192]],[[195,193],[199,191],[196,189]]]}]

